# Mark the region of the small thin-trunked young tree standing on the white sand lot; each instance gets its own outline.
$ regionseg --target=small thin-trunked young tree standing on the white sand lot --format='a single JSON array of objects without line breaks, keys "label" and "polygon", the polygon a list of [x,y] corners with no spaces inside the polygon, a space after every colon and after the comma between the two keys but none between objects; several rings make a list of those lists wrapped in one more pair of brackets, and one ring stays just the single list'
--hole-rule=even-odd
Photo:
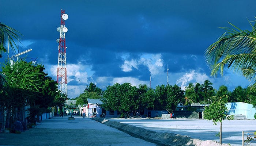
[{"label": "small thin-trunked young tree standing on the white sand lot", "polygon": [[228,110],[227,107],[225,106],[225,102],[219,99],[218,101],[210,104],[209,107],[206,106],[205,111],[204,111],[204,119],[206,120],[212,120],[214,125],[217,125],[217,122],[220,122],[220,138],[219,138],[219,143],[222,144],[221,139],[222,139],[222,120],[224,119],[234,119],[234,116],[227,116]]}]

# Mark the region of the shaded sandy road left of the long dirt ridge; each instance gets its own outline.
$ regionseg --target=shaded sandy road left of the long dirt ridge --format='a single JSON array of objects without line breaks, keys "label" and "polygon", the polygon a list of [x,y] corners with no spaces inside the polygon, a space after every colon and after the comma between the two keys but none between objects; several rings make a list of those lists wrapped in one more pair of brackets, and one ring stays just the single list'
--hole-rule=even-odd
[{"label": "shaded sandy road left of the long dirt ridge", "polygon": [[89,118],[54,117],[21,134],[0,133],[0,146],[157,146]]}]

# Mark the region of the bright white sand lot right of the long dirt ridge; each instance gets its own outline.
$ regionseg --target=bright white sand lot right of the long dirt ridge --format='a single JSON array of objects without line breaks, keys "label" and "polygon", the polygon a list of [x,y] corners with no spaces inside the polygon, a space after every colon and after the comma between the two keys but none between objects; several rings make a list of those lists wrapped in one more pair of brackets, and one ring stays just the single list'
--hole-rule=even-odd
[{"label": "bright white sand lot right of the long dirt ridge", "polygon": [[[110,119],[113,121],[142,127],[158,132],[172,132],[192,138],[219,141],[216,134],[220,125],[204,119]],[[256,131],[256,120],[224,120],[222,123],[222,143],[232,146],[242,145],[242,131]],[[256,141],[253,142],[256,145]]]}]

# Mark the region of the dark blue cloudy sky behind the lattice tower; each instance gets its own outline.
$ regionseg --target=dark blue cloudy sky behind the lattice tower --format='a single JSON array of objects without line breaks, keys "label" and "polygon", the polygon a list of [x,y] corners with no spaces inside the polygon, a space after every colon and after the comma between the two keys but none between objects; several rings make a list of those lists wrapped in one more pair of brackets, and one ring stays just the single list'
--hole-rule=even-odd
[{"label": "dark blue cloudy sky behind the lattice tower", "polygon": [[[167,84],[185,89],[205,80],[218,89],[246,88],[250,82],[225,69],[210,76],[205,50],[230,23],[252,30],[255,0],[0,0],[0,22],[20,31],[20,57],[38,58],[56,81],[61,9],[65,10],[68,97],[93,82],[105,90],[115,83]],[[4,7],[3,7],[4,6]],[[253,23],[254,24],[254,23]],[[17,41],[18,42],[18,41]],[[16,53],[18,50],[16,49]],[[16,54],[10,52],[10,56]],[[7,58],[7,54],[0,59]]]}]

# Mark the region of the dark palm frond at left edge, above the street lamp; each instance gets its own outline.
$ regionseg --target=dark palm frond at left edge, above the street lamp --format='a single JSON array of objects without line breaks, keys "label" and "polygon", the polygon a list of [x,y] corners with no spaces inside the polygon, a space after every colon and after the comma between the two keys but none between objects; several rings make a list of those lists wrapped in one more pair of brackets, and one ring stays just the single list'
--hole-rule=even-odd
[{"label": "dark palm frond at left edge, above the street lamp", "polygon": [[14,46],[16,46],[16,44],[13,39],[19,39],[20,36],[22,36],[22,34],[19,31],[0,22],[0,58],[2,58],[2,54],[7,51],[6,47],[8,47],[8,44],[15,52]]}]

